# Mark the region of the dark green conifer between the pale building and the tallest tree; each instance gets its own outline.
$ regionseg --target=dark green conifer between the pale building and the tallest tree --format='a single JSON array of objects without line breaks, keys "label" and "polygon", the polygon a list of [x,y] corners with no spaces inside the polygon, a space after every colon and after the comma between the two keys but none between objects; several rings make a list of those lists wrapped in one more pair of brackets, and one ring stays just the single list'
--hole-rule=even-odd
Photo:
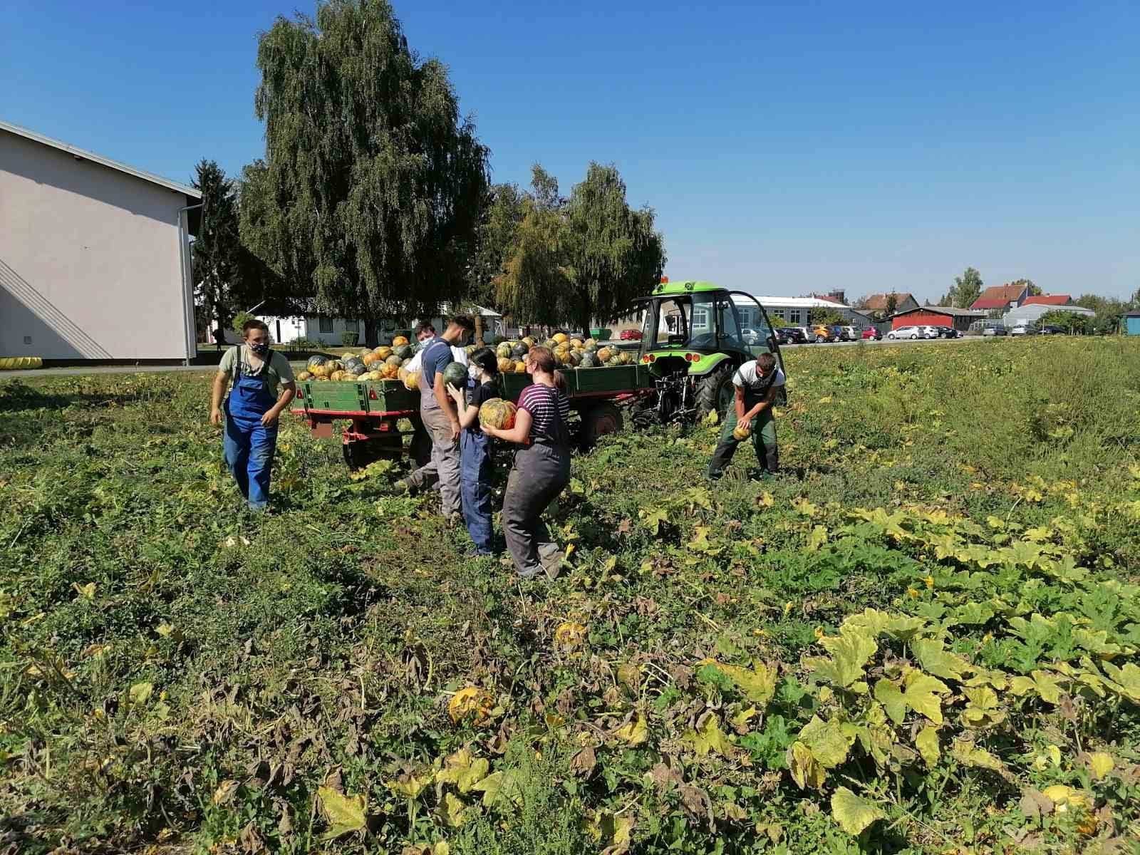
[{"label": "dark green conifer between the pale building and the tallest tree", "polygon": [[235,181],[214,161],[203,158],[194,171],[192,184],[202,194],[202,223],[190,258],[202,320],[227,329],[235,315],[259,304],[260,314],[295,311],[296,301],[284,280],[242,243]]}]

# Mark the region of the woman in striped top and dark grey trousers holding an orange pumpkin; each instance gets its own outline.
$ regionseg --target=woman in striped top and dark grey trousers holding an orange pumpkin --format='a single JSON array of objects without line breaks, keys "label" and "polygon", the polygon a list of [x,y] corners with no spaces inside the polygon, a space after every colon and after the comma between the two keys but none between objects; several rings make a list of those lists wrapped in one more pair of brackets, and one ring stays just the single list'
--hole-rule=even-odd
[{"label": "woman in striped top and dark grey trousers holding an orange pumpkin", "polygon": [[489,437],[516,442],[514,466],[503,495],[503,534],[515,570],[524,579],[545,571],[553,579],[564,554],[543,523],[543,511],[570,482],[570,400],[554,355],[546,348],[527,353],[532,383],[519,396],[514,427],[483,427]]}]

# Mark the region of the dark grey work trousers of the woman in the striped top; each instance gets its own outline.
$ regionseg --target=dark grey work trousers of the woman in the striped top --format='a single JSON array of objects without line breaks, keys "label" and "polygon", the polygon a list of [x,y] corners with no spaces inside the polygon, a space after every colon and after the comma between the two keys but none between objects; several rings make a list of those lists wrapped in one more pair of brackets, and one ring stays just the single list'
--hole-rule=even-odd
[{"label": "dark grey work trousers of the woman in the striped top", "polygon": [[535,576],[559,546],[543,512],[570,483],[570,453],[545,443],[520,449],[503,494],[503,536],[520,576]]}]

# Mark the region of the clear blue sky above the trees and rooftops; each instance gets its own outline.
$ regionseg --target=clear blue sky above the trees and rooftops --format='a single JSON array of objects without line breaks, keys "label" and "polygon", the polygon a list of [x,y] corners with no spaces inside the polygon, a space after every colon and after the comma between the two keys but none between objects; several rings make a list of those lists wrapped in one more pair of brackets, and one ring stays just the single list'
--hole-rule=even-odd
[{"label": "clear blue sky above the trees and rooftops", "polygon": [[[263,149],[256,34],[301,2],[0,0],[0,117],[188,180]],[[591,160],[667,274],[936,300],[977,267],[1140,287],[1140,3],[401,0],[497,181]]]}]

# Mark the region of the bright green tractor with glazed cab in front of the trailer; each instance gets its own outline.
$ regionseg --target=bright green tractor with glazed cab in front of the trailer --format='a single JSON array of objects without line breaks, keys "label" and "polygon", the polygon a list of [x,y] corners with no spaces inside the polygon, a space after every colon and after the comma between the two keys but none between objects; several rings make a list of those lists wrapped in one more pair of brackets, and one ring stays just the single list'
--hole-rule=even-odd
[{"label": "bright green tractor with glazed cab in front of the trailer", "polygon": [[654,421],[692,421],[712,409],[723,416],[733,405],[732,375],[760,353],[783,369],[767,312],[751,294],[710,282],[662,282],[636,302],[645,312],[641,361],[659,392]]}]

